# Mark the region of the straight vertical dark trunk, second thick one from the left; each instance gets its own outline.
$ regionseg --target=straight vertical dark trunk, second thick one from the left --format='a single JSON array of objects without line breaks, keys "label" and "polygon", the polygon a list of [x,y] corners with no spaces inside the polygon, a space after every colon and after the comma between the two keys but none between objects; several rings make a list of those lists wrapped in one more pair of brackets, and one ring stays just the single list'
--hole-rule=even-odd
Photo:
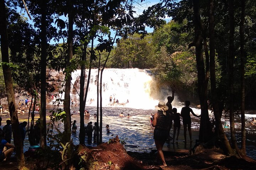
[{"label": "straight vertical dark trunk, second thick one from the left", "polygon": [[40,1],[41,5],[41,108],[40,108],[40,146],[47,146],[46,143],[46,1]]}]

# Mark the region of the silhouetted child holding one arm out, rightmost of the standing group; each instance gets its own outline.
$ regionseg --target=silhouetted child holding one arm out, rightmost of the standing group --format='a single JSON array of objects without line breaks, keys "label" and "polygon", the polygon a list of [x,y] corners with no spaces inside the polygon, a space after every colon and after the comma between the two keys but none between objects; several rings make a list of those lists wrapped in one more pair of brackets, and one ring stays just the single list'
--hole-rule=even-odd
[{"label": "silhouetted child holding one arm out, rightmost of the standing group", "polygon": [[200,117],[201,115],[196,115],[192,111],[192,109],[189,107],[190,106],[190,101],[185,101],[185,107],[182,107],[181,109],[181,117],[183,118],[183,127],[184,127],[184,141],[187,142],[187,128],[188,128],[188,134],[190,135],[190,142],[192,142],[192,135],[191,135],[191,117],[190,117],[190,112],[195,116],[195,117]]}]

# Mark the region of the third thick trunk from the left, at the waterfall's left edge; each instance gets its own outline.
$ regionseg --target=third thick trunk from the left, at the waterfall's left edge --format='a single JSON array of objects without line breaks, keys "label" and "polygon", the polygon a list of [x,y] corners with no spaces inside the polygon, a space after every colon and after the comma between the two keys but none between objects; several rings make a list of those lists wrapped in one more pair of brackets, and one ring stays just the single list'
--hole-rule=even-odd
[{"label": "third thick trunk from the left, at the waterfall's left edge", "polygon": [[[68,1],[68,52],[66,58],[66,66],[70,66],[70,60],[73,58],[73,3],[72,0]],[[66,119],[64,120],[64,143],[70,142],[71,137],[71,114],[70,114],[70,86],[71,86],[71,68],[66,68],[66,75],[65,75],[65,100],[64,100],[64,111],[66,112]]]}]

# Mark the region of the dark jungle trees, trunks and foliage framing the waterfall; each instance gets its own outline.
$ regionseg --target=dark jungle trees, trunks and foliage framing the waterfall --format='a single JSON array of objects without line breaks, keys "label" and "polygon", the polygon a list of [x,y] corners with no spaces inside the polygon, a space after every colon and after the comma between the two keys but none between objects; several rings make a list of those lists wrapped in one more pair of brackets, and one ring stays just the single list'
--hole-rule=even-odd
[{"label": "dark jungle trees, trunks and foliage framing the waterfall", "polygon": [[[98,68],[100,77],[106,67],[152,69],[161,83],[198,99],[201,142],[217,136],[226,154],[245,155],[245,108],[256,106],[256,1],[162,0],[134,17],[134,3],[143,1],[27,0],[32,24],[18,10],[24,8],[21,1],[0,1],[0,95],[7,96],[19,167],[25,166],[25,159],[14,88],[25,90],[35,102],[39,98],[41,148],[47,148],[47,139],[52,148],[54,140],[58,146],[64,143],[63,161],[71,165],[71,73],[81,69],[80,134],[84,134],[83,111],[90,81],[90,71],[85,75],[84,70]],[[165,17],[172,20],[166,23]],[[148,33],[146,27],[154,32]],[[51,40],[57,43],[51,44]],[[52,126],[55,118],[64,121],[64,132],[56,136],[46,126],[46,95],[53,91],[46,81],[50,77],[47,68],[65,70],[64,111],[53,111],[51,119]],[[97,122],[102,129],[102,80],[97,83]],[[211,132],[207,100],[213,105],[216,134]],[[232,145],[221,125],[223,108],[230,113]],[[241,110],[241,148],[234,129],[236,110]],[[79,140],[84,144],[85,136],[80,135]],[[97,143],[101,142],[100,132]]]}]

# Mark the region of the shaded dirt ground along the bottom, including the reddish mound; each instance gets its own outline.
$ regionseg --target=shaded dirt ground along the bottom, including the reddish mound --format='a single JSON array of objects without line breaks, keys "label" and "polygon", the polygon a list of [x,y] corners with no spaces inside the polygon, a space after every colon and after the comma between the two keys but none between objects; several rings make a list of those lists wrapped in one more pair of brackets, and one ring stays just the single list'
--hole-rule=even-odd
[{"label": "shaded dirt ground along the bottom, including the reddish mound", "polygon": [[[197,149],[192,155],[177,153],[164,153],[166,168],[161,168],[161,161],[157,159],[157,153],[126,152],[119,143],[118,137],[109,143],[103,143],[97,147],[87,148],[79,146],[73,164],[79,164],[79,168],[88,170],[254,170],[256,161],[247,158],[241,159],[235,155],[226,156],[217,148]],[[79,159],[77,159],[79,157]],[[33,169],[35,159],[26,158],[26,167]],[[83,159],[81,161],[81,159]],[[80,160],[79,163],[76,160]],[[111,164],[109,163],[111,161]],[[17,162],[12,158],[10,162],[0,164],[1,170],[16,170]],[[35,168],[34,168],[35,169]]]}]

